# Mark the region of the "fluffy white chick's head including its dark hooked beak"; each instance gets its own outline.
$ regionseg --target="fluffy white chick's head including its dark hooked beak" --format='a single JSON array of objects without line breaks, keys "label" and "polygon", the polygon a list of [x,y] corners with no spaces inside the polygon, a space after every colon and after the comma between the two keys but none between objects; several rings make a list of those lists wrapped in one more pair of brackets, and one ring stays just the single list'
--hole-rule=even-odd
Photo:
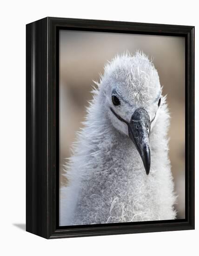
[{"label": "fluffy white chick's head including its dark hooked beak", "polygon": [[150,133],[161,107],[157,70],[143,53],[123,54],[106,65],[100,84],[106,96],[103,104],[110,122],[133,141],[148,175]]}]

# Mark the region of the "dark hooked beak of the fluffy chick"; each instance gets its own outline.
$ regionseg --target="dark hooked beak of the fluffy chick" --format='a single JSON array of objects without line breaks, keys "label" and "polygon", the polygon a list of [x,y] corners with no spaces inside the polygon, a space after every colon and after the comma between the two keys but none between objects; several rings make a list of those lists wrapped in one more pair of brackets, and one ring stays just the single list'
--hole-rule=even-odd
[{"label": "dark hooked beak of the fluffy chick", "polygon": [[151,166],[149,128],[150,117],[146,110],[143,108],[136,109],[128,125],[128,134],[142,158],[147,175],[149,174]]}]

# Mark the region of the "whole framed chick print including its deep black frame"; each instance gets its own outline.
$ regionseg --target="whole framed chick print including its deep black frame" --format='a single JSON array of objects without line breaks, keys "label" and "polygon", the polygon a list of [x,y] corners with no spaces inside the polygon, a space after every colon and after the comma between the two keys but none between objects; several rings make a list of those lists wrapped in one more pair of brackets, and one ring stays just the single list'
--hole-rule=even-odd
[{"label": "whole framed chick print including its deep black frame", "polygon": [[194,27],[27,25],[27,231],[194,229]]}]

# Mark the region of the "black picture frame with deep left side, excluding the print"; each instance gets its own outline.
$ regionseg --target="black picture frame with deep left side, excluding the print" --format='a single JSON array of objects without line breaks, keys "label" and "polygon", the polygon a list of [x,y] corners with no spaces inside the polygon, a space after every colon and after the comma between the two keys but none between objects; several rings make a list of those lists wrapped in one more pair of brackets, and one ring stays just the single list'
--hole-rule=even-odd
[{"label": "black picture frame with deep left side, excluding the print", "polygon": [[[185,219],[59,227],[59,29],[185,37]],[[194,27],[46,17],[26,31],[26,230],[63,238],[194,229]]]}]

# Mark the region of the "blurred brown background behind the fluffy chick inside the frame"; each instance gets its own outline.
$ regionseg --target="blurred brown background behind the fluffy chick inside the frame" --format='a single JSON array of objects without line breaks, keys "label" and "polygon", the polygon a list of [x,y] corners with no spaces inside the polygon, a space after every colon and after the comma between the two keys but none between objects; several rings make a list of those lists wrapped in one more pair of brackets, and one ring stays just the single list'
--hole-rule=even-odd
[{"label": "blurred brown background behind the fluffy chick inside the frame", "polygon": [[[178,194],[178,218],[185,218],[185,40],[182,37],[60,31],[60,174],[82,127],[91,85],[115,54],[142,50],[158,70],[171,114],[170,160]],[[60,175],[60,184],[65,181]]]}]

